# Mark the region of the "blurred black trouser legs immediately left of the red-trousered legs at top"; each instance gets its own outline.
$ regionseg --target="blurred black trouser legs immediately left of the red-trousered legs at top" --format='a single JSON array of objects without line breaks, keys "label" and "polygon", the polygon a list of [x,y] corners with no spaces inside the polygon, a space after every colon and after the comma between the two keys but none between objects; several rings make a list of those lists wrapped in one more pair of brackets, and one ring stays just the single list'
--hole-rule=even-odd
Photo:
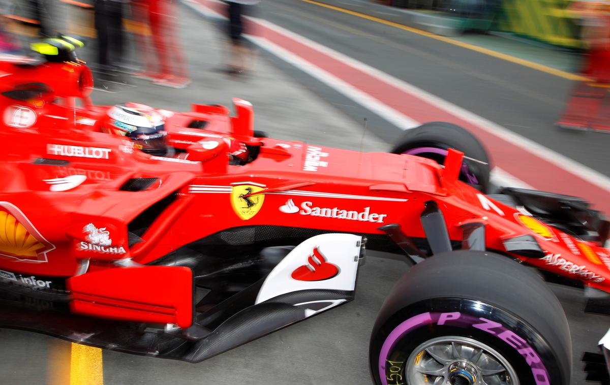
[{"label": "blurred black trouser legs immediately left of the red-trousered legs at top", "polygon": [[95,0],[94,11],[100,79],[121,82],[117,70],[123,60],[123,2]]}]

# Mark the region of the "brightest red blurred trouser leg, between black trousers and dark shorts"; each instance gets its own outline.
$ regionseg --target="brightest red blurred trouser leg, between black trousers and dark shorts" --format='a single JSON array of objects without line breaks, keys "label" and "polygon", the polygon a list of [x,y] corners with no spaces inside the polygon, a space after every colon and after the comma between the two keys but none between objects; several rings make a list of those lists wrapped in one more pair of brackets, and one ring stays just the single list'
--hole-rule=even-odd
[{"label": "brightest red blurred trouser leg, between black trousers and dark shorts", "polygon": [[159,76],[153,80],[153,83],[184,88],[190,83],[190,79],[182,54],[182,45],[176,38],[173,7],[174,4],[168,0],[148,0],[148,21],[159,60]]}]

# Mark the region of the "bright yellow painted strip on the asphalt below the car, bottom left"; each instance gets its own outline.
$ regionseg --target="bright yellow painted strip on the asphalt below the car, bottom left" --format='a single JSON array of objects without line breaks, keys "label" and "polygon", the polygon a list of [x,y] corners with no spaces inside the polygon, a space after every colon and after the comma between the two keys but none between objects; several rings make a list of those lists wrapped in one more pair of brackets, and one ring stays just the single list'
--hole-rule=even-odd
[{"label": "bright yellow painted strip on the asphalt below the car, bottom left", "polygon": [[70,385],[104,385],[102,350],[71,344]]}]

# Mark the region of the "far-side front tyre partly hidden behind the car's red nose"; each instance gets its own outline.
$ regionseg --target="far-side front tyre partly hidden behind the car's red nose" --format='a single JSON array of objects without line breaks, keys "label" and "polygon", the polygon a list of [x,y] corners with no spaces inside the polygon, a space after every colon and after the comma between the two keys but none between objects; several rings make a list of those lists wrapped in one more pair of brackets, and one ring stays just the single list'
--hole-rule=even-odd
[{"label": "far-side front tyre partly hidden behind the car's red nose", "polygon": [[[489,171],[491,168],[489,156],[483,144],[459,125],[447,122],[430,122],[411,130],[406,130],[398,138],[392,154],[411,154],[418,157],[436,160],[442,164],[447,155],[447,149],[456,149],[464,155],[483,163],[464,159],[467,166],[460,172],[459,178],[483,193],[489,191]],[[437,150],[433,150],[437,149]],[[466,172],[464,172],[466,171]]]}]

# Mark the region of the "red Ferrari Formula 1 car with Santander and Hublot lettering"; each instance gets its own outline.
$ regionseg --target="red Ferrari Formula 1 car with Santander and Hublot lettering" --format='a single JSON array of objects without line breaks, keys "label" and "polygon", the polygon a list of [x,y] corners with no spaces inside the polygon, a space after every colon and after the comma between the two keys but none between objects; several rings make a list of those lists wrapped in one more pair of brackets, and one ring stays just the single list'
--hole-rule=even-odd
[{"label": "red Ferrari Formula 1 car with Santander and Hublot lettering", "polygon": [[0,62],[0,325],[198,362],[352,300],[366,245],[423,260],[371,334],[376,384],[569,383],[565,314],[521,263],[610,291],[586,202],[486,195],[487,155],[454,125],[365,154],[254,135],[240,100],[168,114],[184,156],[145,154],[101,132],[65,59]]}]

